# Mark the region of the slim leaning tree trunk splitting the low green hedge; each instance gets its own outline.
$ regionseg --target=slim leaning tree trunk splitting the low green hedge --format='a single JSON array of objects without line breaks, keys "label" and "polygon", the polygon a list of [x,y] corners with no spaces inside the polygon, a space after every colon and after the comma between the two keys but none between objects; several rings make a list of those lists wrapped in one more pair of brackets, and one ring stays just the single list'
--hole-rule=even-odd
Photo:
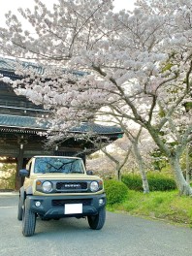
[{"label": "slim leaning tree trunk splitting the low green hedge", "polygon": [[134,154],[135,154],[135,157],[137,159],[139,170],[140,170],[140,173],[141,173],[141,176],[142,176],[144,193],[146,194],[146,193],[149,193],[148,180],[147,180],[147,176],[146,176],[146,173],[145,173],[145,170],[144,170],[144,161],[143,161],[142,155],[139,151],[137,143],[133,143],[133,150],[134,150]]}]

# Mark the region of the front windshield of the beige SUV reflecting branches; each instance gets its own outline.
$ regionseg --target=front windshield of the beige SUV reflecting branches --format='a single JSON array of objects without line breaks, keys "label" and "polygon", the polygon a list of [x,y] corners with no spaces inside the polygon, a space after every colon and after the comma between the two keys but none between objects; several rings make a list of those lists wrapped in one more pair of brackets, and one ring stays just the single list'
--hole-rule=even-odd
[{"label": "front windshield of the beige SUV reflecting branches", "polygon": [[83,174],[84,168],[82,160],[77,158],[37,157],[34,173]]}]

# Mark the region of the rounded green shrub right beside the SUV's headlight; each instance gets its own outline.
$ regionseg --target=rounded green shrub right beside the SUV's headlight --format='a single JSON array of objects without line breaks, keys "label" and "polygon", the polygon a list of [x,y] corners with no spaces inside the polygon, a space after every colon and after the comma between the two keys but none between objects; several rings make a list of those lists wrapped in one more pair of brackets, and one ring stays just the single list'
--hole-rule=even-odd
[{"label": "rounded green shrub right beside the SUV's headlight", "polygon": [[127,196],[127,186],[118,180],[105,180],[105,190],[108,205],[118,204],[124,201]]}]

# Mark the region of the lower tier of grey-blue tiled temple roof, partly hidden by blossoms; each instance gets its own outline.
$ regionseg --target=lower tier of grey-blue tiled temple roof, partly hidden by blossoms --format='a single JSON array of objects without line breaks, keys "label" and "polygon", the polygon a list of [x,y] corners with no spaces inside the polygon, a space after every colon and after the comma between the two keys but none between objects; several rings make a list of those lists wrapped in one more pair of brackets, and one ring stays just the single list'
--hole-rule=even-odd
[{"label": "lower tier of grey-blue tiled temple roof, partly hidden by blossoms", "polygon": [[[19,130],[19,132],[32,131],[47,131],[48,122],[43,118],[33,116],[22,116],[13,114],[0,114],[0,129],[5,130]],[[116,126],[103,126],[96,123],[82,123],[79,127],[73,128],[70,132],[72,133],[87,133],[93,132],[96,134],[112,135],[112,134],[123,134],[122,130]]]}]

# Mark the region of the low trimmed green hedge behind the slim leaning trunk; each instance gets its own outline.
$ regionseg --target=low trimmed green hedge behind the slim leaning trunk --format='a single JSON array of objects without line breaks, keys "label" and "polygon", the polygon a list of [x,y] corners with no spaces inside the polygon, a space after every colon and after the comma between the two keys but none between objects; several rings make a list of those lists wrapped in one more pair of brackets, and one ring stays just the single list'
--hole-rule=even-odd
[{"label": "low trimmed green hedge behind the slim leaning trunk", "polygon": [[[176,181],[171,177],[161,175],[147,175],[150,191],[168,191],[176,189]],[[138,175],[122,176],[122,181],[129,189],[143,191],[142,177]]]}]

